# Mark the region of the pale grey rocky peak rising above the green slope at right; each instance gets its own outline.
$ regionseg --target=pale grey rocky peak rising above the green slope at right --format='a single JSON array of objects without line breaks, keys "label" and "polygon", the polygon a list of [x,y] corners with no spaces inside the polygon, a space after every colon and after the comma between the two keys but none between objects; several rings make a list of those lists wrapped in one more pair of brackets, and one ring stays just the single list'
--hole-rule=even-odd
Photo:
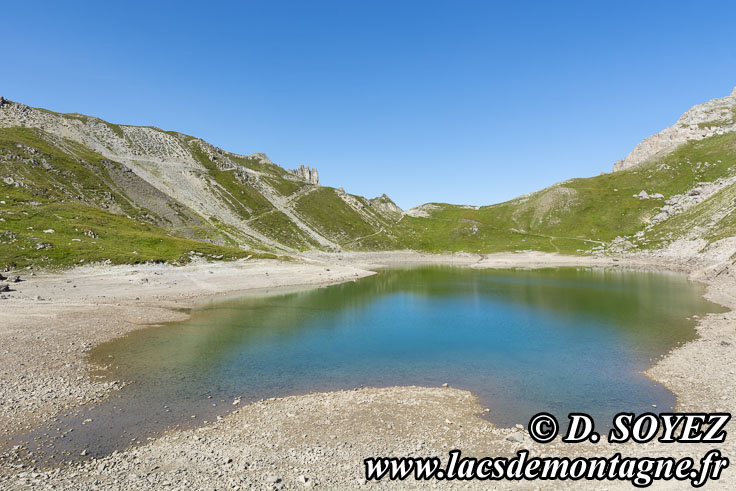
[{"label": "pale grey rocky peak rising above the green slope at right", "polygon": [[656,155],[669,153],[683,143],[736,132],[736,88],[731,95],[693,107],[677,123],[645,138],[632,152],[613,165],[613,171],[634,167]]}]

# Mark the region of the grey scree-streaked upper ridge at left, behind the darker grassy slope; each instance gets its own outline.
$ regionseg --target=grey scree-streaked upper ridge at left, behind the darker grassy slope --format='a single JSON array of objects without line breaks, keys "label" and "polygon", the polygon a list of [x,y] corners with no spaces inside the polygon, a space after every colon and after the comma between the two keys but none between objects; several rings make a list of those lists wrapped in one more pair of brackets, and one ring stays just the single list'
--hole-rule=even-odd
[{"label": "grey scree-streaked upper ridge at left, behind the darker grassy slope", "polygon": [[[313,191],[310,187],[319,186],[316,170],[294,173],[272,163],[265,154],[239,155],[178,132],[60,114],[6,99],[0,106],[0,127],[43,132],[42,139],[55,139],[62,151],[63,142],[76,142],[124,165],[163,196],[200,217],[209,225],[210,240],[217,243],[280,253],[307,247],[341,248],[340,230],[310,225],[298,209]],[[371,210],[371,200],[352,198],[344,192],[335,194],[353,210],[356,216],[352,218],[362,222],[368,232],[365,235],[393,220],[378,208]],[[263,224],[257,217],[266,213],[271,214],[270,221]],[[283,230],[275,234],[278,226]],[[351,241],[356,238],[349,236]]]}]

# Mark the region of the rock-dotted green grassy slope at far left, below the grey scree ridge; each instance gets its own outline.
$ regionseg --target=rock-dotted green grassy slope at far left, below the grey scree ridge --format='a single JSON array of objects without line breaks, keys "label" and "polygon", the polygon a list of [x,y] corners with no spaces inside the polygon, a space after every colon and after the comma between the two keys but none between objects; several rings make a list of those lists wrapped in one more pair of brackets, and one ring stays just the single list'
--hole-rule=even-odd
[{"label": "rock-dotted green grassy slope at far left, below the grey scree ridge", "polygon": [[[132,201],[113,177],[125,173],[120,164],[73,142],[58,144],[37,130],[0,129],[0,268],[248,254],[205,242],[216,232],[187,218],[173,200],[167,215],[179,223]],[[146,191],[145,183],[137,184],[138,192]],[[176,226],[183,227],[179,236]]]}]

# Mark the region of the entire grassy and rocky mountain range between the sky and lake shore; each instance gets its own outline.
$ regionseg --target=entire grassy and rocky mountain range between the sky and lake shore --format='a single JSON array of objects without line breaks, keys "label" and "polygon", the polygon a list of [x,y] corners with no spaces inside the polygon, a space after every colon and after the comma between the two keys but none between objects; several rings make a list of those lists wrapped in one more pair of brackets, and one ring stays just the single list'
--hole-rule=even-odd
[{"label": "entire grassy and rocky mountain range between the sky and lake shore", "polygon": [[[13,247],[0,265],[293,257],[311,249],[618,254],[679,240],[701,241],[704,250],[736,236],[734,103],[736,90],[691,108],[613,173],[487,206],[403,211],[385,194],[368,199],[320,186],[315,169],[286,170],[265,154],[3,99],[0,229],[8,230],[0,230],[0,243]],[[27,216],[38,225],[24,226]],[[54,221],[63,233],[38,232]],[[678,221],[689,228],[669,226]],[[83,230],[109,242],[102,247]],[[141,234],[147,248],[138,247]]]}]

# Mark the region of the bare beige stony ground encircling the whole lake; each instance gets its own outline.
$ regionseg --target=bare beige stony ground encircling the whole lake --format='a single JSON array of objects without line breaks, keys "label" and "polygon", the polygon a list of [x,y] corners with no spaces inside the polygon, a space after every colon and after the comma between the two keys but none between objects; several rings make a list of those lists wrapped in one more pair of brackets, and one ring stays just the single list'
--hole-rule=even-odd
[{"label": "bare beige stony ground encircling the whole lake", "polygon": [[[736,306],[733,266],[673,256],[619,259],[566,258],[541,253],[431,256],[404,253],[314,254],[293,263],[252,261],[196,264],[185,268],[138,266],[81,268],[63,274],[27,275],[11,298],[0,300],[0,434],[12,434],[61,409],[95,400],[114,387],[91,380],[84,353],[92,345],[149,323],[182,318],[170,307],[198,297],[250,288],[280,288],[348,281],[369,268],[411,264],[472,267],[601,265],[689,272],[708,285],[707,298]],[[210,273],[211,271],[211,273]],[[36,300],[41,297],[45,300]],[[736,402],[736,313],[699,320],[700,338],[680,347],[649,370],[677,395],[680,411],[732,411]],[[73,344],[72,344],[73,343]],[[361,489],[388,486],[487,488],[482,482],[369,482],[370,456],[439,456],[459,448],[464,455],[685,456],[700,458],[700,444],[613,445],[534,443],[517,428],[496,428],[485,408],[454,388],[359,389],[269,399],[237,409],[205,426],[169,432],[140,447],[56,469],[37,469],[0,459],[0,488],[25,489]],[[524,424],[526,422],[519,421]],[[729,425],[729,430],[733,424]],[[513,434],[513,436],[510,436]],[[733,461],[734,441],[717,448]],[[494,483],[495,484],[495,483]],[[545,483],[498,483],[536,489]],[[707,489],[733,489],[736,471],[726,469]],[[630,487],[628,483],[556,482],[554,488]],[[664,483],[662,489],[688,488]]]}]

